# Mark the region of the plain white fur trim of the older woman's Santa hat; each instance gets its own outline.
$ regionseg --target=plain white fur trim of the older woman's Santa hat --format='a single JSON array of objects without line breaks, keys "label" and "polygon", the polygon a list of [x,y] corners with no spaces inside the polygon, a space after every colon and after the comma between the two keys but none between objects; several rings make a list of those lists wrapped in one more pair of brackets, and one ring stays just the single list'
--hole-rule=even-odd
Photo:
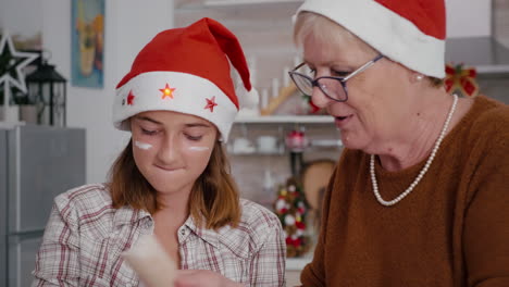
[{"label": "plain white fur trim of the older woman's Santa hat", "polygon": [[373,0],[307,0],[297,11],[321,14],[387,58],[437,78],[445,77],[445,41]]}]

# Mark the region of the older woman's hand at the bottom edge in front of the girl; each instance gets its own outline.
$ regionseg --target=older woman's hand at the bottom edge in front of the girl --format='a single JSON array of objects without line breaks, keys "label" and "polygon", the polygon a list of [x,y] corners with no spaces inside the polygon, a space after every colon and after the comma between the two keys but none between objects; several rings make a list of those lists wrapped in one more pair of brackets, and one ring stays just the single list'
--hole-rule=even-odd
[{"label": "older woman's hand at the bottom edge in front of the girl", "polygon": [[174,280],[175,287],[241,287],[223,275],[209,270],[179,270]]}]

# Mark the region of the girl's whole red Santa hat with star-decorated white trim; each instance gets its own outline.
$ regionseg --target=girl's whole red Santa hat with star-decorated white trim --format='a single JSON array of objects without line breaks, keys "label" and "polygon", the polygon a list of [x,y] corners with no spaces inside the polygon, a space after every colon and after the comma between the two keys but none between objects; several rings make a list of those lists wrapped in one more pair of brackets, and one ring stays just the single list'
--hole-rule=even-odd
[{"label": "girl's whole red Santa hat with star-decorated white trim", "polygon": [[[231,66],[244,85],[237,91]],[[202,18],[188,27],[158,34],[136,57],[116,86],[115,127],[128,130],[131,116],[145,111],[175,111],[213,123],[226,141],[240,107],[256,104],[248,65],[235,35]]]}]

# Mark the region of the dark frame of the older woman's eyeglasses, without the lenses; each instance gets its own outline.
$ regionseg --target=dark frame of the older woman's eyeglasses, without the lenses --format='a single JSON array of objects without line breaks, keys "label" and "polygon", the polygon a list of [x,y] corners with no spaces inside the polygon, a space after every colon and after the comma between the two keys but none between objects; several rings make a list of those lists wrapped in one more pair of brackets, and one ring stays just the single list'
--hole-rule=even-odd
[{"label": "dark frame of the older woman's eyeglasses, without the lenses", "polygon": [[[288,72],[288,75],[289,77],[291,78],[291,80],[295,83],[295,86],[306,96],[308,97],[311,97],[311,95],[308,95],[306,91],[303,91],[299,85],[297,84],[297,80],[294,78],[294,76],[298,76],[298,77],[301,77],[301,78],[305,78],[307,79],[310,84],[311,84],[311,89],[314,88],[314,87],[319,87],[320,90],[323,92],[323,95],[325,95],[325,97],[327,97],[328,99],[333,100],[333,101],[337,101],[337,102],[346,102],[348,100],[348,89],[347,89],[347,86],[346,86],[346,82],[350,78],[352,78],[355,75],[361,73],[362,71],[367,70],[368,67],[370,67],[371,65],[373,65],[374,63],[376,63],[380,59],[384,58],[383,54],[378,54],[376,55],[373,60],[367,62],[365,64],[363,64],[362,66],[360,66],[359,68],[357,68],[356,71],[351,72],[348,76],[346,77],[334,77],[334,76],[323,76],[323,77],[318,77],[315,79],[305,75],[305,74],[301,74],[299,72],[296,72],[297,70],[299,70],[301,66],[303,66],[306,63],[302,62],[300,63],[299,65],[297,65],[296,67],[294,67],[294,70],[291,70],[290,72]],[[331,97],[327,91],[324,89],[324,87],[322,87],[322,85],[320,85],[320,79],[322,78],[328,78],[328,79],[336,79],[339,82],[339,84],[342,84],[342,87],[343,87],[343,90],[345,91],[345,99],[336,99],[336,98],[333,98]]]}]

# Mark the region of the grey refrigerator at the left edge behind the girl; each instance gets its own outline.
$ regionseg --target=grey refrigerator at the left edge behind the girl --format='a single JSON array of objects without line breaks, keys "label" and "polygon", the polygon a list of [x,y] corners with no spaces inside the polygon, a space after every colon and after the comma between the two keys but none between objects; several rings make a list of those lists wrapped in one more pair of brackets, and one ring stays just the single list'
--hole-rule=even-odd
[{"label": "grey refrigerator at the left edge behind the girl", "polygon": [[0,125],[0,287],[29,286],[53,198],[85,184],[85,129]]}]

